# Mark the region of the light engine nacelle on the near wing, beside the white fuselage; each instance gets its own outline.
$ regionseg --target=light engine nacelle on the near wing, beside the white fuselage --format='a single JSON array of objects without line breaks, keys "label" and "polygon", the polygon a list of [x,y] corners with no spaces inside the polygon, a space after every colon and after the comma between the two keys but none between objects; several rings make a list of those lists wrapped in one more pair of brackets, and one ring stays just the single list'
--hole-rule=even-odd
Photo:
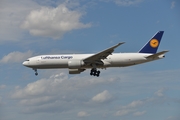
[{"label": "light engine nacelle on the near wing, beside the white fuselage", "polygon": [[81,60],[70,60],[68,61],[69,69],[79,69],[81,66],[84,65],[84,62]]}]

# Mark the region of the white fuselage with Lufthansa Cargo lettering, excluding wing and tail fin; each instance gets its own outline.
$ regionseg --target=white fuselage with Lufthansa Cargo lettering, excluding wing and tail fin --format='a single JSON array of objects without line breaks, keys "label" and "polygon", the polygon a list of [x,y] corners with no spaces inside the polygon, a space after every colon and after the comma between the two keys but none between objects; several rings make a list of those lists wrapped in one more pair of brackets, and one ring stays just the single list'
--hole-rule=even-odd
[{"label": "white fuselage with Lufthansa Cargo lettering, excluding wing and tail fin", "polygon": [[[83,63],[83,59],[92,56],[93,54],[62,54],[62,55],[40,55],[27,59],[23,65],[33,69],[54,69],[54,68],[69,68],[69,69],[86,69],[93,68],[92,65]],[[147,58],[152,54],[147,53],[113,53],[106,59],[102,59],[102,64],[96,66],[97,68],[107,67],[125,67],[136,64],[141,64],[153,60],[163,58],[158,56],[156,58]],[[72,66],[70,65],[71,63]],[[79,64],[79,65],[76,65]]]}]

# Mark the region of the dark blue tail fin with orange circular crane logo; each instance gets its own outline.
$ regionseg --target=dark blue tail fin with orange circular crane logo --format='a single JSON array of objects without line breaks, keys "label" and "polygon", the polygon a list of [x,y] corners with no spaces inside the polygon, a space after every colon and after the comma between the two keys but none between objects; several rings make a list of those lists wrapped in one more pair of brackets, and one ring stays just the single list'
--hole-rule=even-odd
[{"label": "dark blue tail fin with orange circular crane logo", "polygon": [[144,46],[139,53],[156,53],[161,42],[164,31],[157,32]]}]

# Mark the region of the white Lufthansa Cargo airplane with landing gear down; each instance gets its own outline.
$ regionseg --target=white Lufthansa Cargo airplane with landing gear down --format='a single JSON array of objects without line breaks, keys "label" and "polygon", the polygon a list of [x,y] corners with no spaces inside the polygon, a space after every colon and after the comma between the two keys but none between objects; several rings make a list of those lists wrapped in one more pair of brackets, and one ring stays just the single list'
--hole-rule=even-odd
[{"label": "white Lufthansa Cargo airplane with landing gear down", "polygon": [[124,44],[120,42],[98,53],[39,55],[28,58],[22,64],[32,68],[36,76],[38,75],[37,69],[68,68],[69,74],[80,74],[86,69],[91,69],[90,75],[99,77],[100,71],[97,69],[127,67],[164,58],[167,50],[157,53],[163,33],[164,31],[158,31],[136,53],[113,53],[115,48]]}]

